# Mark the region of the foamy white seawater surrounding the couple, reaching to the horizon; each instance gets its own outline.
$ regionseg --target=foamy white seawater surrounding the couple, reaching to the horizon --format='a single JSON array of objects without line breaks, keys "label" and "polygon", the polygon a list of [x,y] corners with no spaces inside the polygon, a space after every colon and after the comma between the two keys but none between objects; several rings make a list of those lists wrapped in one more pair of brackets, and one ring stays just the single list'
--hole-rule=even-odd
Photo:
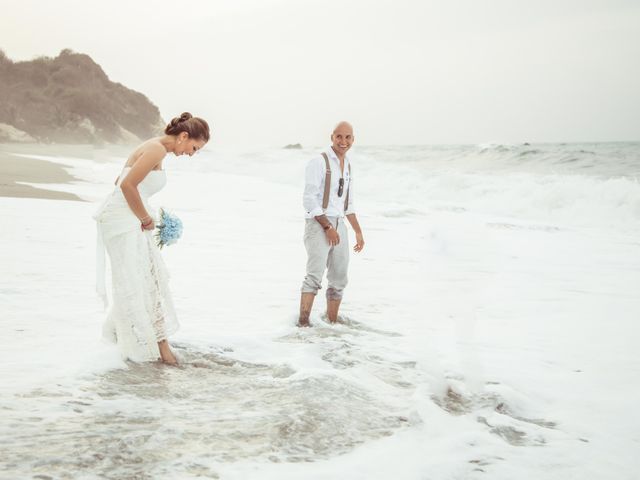
[{"label": "foamy white seawater surrounding the couple, reaching to the horizon", "polygon": [[[303,330],[311,151],[167,158],[154,202],[185,226],[163,249],[179,368],[124,363],[99,339],[91,201],[124,156],[47,157],[84,180],[56,188],[88,202],[0,198],[0,471],[633,478],[635,177],[530,169],[515,147],[460,147],[453,169],[451,149],[360,152],[367,244],[351,257],[342,323],[323,320],[321,292]],[[478,171],[487,155],[494,170]]]}]

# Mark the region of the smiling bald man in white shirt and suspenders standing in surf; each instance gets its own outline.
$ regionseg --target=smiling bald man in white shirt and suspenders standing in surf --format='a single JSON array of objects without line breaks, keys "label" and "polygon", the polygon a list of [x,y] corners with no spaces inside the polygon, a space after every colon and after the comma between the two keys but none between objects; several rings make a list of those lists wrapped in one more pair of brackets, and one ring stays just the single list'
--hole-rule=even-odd
[{"label": "smiling bald man in white shirt and suspenders standing in surf", "polygon": [[347,122],[340,122],[331,134],[331,147],[307,164],[302,201],[306,217],[304,246],[307,250],[307,274],[302,282],[299,327],[310,325],[313,300],[322,288],[325,270],[328,280],[327,319],[331,323],[338,321],[349,267],[345,217],[356,234],[353,250],[360,252],[364,248],[364,237],[353,206],[353,179],[347,157],[353,140],[353,127]]}]

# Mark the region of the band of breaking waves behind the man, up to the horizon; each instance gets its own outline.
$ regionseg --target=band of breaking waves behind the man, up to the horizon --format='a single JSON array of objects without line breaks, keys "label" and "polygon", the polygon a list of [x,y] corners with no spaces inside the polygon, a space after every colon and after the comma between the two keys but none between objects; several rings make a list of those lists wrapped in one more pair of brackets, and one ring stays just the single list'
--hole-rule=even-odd
[{"label": "band of breaking waves behind the man, up to the horizon", "polygon": [[[321,150],[212,151],[180,169],[252,176],[301,194],[306,162]],[[357,208],[389,218],[446,206],[560,227],[640,225],[640,143],[354,147],[351,159]]]}]

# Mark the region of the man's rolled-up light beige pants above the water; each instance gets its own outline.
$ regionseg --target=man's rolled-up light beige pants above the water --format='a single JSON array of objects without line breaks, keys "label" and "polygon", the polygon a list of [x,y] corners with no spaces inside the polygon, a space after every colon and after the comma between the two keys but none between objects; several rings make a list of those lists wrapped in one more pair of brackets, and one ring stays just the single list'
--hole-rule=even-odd
[{"label": "man's rolled-up light beige pants above the water", "polygon": [[[349,239],[343,218],[328,217],[340,235],[340,243],[329,245],[322,226],[315,218],[306,219],[304,246],[307,249],[307,275],[302,282],[302,293],[318,293],[322,288],[322,277],[327,270],[327,298],[340,300],[347,286],[349,268]],[[337,226],[336,226],[337,225]]]}]

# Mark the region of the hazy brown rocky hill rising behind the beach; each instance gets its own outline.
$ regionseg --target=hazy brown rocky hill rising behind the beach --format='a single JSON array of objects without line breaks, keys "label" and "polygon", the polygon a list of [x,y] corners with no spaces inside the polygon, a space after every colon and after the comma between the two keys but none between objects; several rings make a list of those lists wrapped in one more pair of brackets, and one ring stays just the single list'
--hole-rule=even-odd
[{"label": "hazy brown rocky hill rising behind the beach", "polygon": [[88,55],[14,62],[0,50],[0,142],[131,143],[162,128],[158,107]]}]

